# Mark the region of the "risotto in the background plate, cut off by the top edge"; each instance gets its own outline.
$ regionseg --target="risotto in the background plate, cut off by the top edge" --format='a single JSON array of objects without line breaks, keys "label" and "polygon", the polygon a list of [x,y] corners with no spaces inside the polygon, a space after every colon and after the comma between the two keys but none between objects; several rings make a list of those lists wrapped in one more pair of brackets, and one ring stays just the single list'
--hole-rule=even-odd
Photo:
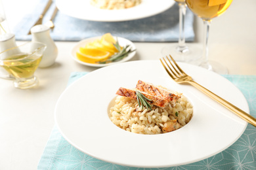
[{"label": "risotto in the background plate, cut off by the top edge", "polygon": [[141,0],[91,0],[91,5],[99,9],[128,9],[141,3]]}]

